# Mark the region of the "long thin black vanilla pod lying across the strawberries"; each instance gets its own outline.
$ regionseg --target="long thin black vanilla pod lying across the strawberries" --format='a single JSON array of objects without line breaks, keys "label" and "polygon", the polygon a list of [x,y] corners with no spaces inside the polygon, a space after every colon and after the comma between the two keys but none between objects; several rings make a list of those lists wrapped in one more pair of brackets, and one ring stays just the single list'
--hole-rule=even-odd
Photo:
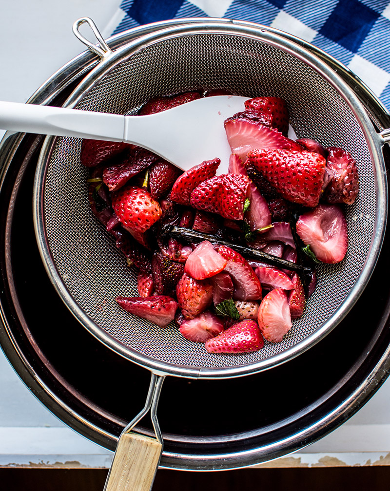
[{"label": "long thin black vanilla pod lying across the strawberries", "polygon": [[222,246],[230,247],[236,252],[244,257],[251,257],[253,259],[258,259],[264,263],[270,264],[272,266],[277,266],[279,268],[284,268],[286,270],[296,271],[297,273],[303,273],[305,275],[311,274],[311,269],[303,266],[301,264],[295,264],[284,259],[280,259],[277,256],[267,254],[257,249],[252,249],[251,247],[240,246],[238,244],[232,244],[231,242],[224,241],[219,237],[210,234],[203,234],[202,232],[197,232],[184,227],[168,226],[163,229],[163,235],[168,235],[175,239],[183,239],[188,242],[201,242],[210,241],[212,244],[221,244]]}]

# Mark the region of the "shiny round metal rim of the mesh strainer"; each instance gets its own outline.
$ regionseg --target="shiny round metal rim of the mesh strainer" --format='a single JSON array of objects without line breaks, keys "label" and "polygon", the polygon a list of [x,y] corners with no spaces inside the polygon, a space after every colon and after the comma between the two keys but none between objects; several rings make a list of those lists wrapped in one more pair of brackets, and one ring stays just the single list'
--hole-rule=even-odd
[{"label": "shiny round metal rim of the mesh strainer", "polygon": [[[53,147],[56,143],[55,137],[47,137],[42,147],[41,155],[39,158],[35,183],[34,183],[34,227],[37,237],[38,247],[43,259],[45,268],[51,281],[53,282],[57,293],[70,309],[72,314],[81,322],[81,324],[87,328],[97,339],[103,342],[107,347],[132,360],[133,362],[150,369],[152,372],[160,375],[174,375],[178,377],[187,378],[230,378],[239,377],[257,373],[263,370],[267,370],[273,366],[277,366],[293,357],[300,355],[306,351],[310,346],[320,341],[328,332],[330,332],[340,322],[345,315],[349,312],[352,306],[360,297],[365,284],[367,283],[373,268],[376,264],[378,254],[383,242],[386,218],[387,218],[387,180],[385,166],[383,158],[380,157],[381,147],[383,141],[381,136],[375,131],[375,128],[369,119],[367,112],[363,105],[357,98],[353,90],[333,72],[328,65],[326,65],[321,59],[307,51],[291,39],[286,39],[281,31],[275,29],[267,31],[262,26],[249,25],[249,23],[239,23],[238,21],[232,21],[227,27],[226,20],[222,22],[213,20],[213,22],[207,23],[192,23],[190,26],[184,24],[174,27],[169,27],[159,30],[157,33],[152,32],[146,34],[123,47],[118,48],[112,55],[99,63],[93,68],[90,74],[84,79],[83,82],[77,87],[73,94],[65,102],[65,107],[75,107],[77,103],[84,96],[84,93],[95,85],[100,78],[114,68],[118,63],[123,62],[124,59],[139,52],[146,46],[157,43],[159,41],[170,39],[172,37],[185,35],[204,34],[205,32],[210,34],[234,34],[238,36],[251,37],[256,40],[265,41],[268,44],[298,57],[305,61],[317,72],[319,72],[333,87],[337,90],[340,96],[344,99],[346,104],[350,107],[355,115],[359,125],[362,129],[363,135],[366,138],[367,146],[370,151],[372,163],[374,165],[374,171],[377,177],[377,202],[376,207],[379,210],[378,214],[378,226],[376,232],[372,238],[371,253],[367,257],[366,262],[363,265],[362,273],[359,276],[358,281],[351,288],[347,298],[343,301],[340,307],[334,312],[330,319],[328,319],[321,327],[316,329],[313,333],[308,335],[304,340],[298,342],[291,348],[280,352],[277,355],[272,355],[260,361],[252,362],[247,365],[241,365],[239,367],[219,367],[219,368],[206,368],[206,367],[183,367],[170,364],[164,361],[159,361],[150,356],[141,355],[138,351],[135,351],[129,347],[126,347],[122,343],[115,340],[111,335],[99,327],[93,322],[80,308],[78,303],[73,299],[72,295],[66,288],[62,281],[60,274],[58,273],[55,265],[54,258],[50,252],[50,246],[47,240],[45,220],[44,220],[44,205],[43,205],[43,190],[45,186],[46,168],[49,162],[50,155]],[[124,57],[126,54],[126,57]],[[382,206],[380,206],[382,205]]]}]

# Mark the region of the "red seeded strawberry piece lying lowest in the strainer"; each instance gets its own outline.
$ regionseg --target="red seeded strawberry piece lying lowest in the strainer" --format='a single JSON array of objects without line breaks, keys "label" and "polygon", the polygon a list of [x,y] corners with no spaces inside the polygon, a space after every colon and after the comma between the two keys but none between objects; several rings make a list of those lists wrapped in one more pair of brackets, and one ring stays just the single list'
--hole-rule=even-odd
[{"label": "red seeded strawberry piece lying lowest in the strainer", "polygon": [[257,323],[251,320],[234,324],[204,345],[209,353],[250,353],[263,346],[264,339]]}]

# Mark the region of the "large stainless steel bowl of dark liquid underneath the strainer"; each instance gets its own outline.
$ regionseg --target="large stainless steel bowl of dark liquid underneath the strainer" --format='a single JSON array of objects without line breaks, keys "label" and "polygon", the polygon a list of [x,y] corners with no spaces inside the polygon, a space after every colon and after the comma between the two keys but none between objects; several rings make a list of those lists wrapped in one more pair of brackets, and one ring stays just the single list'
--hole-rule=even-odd
[{"label": "large stainless steel bowl of dark liquid underneath the strainer", "polygon": [[[196,21],[191,19],[187,22]],[[203,19],[202,22],[208,24],[213,21]],[[225,24],[229,23],[230,21],[225,21]],[[108,44],[114,49],[134,39],[137,34],[177,25],[180,25],[180,21],[132,29],[120,36],[114,36]],[[273,32],[271,28],[266,29]],[[299,41],[292,36],[286,37],[295,42]],[[377,122],[379,130],[389,127],[389,114],[364,84],[330,56],[306,43],[303,43],[303,46],[315,55],[321,56],[332,70],[343,76],[351,90],[357,91],[360,100],[369,108],[371,117]],[[51,103],[55,95],[62,96],[66,93],[72,83],[96,63],[94,55],[83,53],[45,82],[30,102]],[[39,137],[37,139],[39,140]],[[56,296],[49,295],[50,288],[46,286],[45,274],[38,271],[37,255],[33,256],[30,263],[31,273],[35,276],[31,276],[31,279],[28,277],[27,280],[25,277],[17,278],[20,266],[18,256],[15,259],[16,265],[12,264],[10,251],[15,250],[15,241],[12,241],[11,231],[12,228],[20,229],[18,200],[23,200],[25,187],[22,187],[22,184],[23,180],[27,179],[26,168],[32,159],[33,148],[39,147],[39,142],[26,140],[24,135],[9,134],[0,146],[0,198],[1,203],[5,203],[3,209],[9,207],[10,212],[5,239],[5,250],[8,251],[7,274],[3,275],[4,285],[0,292],[1,347],[20,377],[46,407],[82,435],[106,448],[114,449],[119,433],[126,426],[127,416],[124,418],[123,414],[134,414],[142,407],[144,396],[139,390],[140,400],[129,397],[123,402],[116,401],[111,397],[111,385],[115,385],[115,381],[118,380],[120,387],[123,387],[125,382],[131,388],[135,382],[140,381],[140,389],[142,384],[147,385],[147,378],[143,378],[142,369],[115,356],[110,349],[84,335],[84,329],[80,331],[77,321],[72,322],[71,316],[67,315],[67,309],[62,308],[61,303],[56,301]],[[22,160],[25,159],[24,163],[20,161],[21,155]],[[31,165],[34,165],[33,160]],[[13,183],[9,175],[12,176],[12,169],[16,170],[19,167],[16,181]],[[12,198],[8,200],[10,182],[13,192]],[[26,235],[22,238],[28,241],[26,244],[32,253],[33,241]],[[389,245],[389,240],[386,244]],[[167,401],[163,394],[159,403],[159,417],[160,420],[163,419],[165,440],[162,466],[211,470],[265,462],[302,449],[334,430],[361,408],[381,386],[390,370],[389,301],[386,295],[377,298],[374,293],[371,294],[375,291],[377,282],[381,281],[381,272],[388,267],[387,253],[382,254],[377,268],[380,271],[376,273],[377,269],[375,270],[374,277],[363,292],[362,307],[358,301],[332,333],[302,356],[269,372],[245,379],[233,379],[229,381],[228,389],[223,384],[224,381],[211,381],[213,385],[209,390],[207,381],[187,382],[183,379],[168,378],[164,390]],[[28,288],[31,286],[34,289],[36,278],[39,278],[41,291],[39,294],[35,290],[29,293]],[[6,281],[8,283],[5,283]],[[23,286],[26,282],[27,288],[24,291]],[[8,293],[8,289],[13,290],[13,293]],[[31,302],[27,301],[29,295],[32,296]],[[35,309],[37,304],[41,305],[42,295],[46,300],[46,307],[41,309],[39,323],[36,323],[36,319],[31,320],[31,309]],[[372,302],[375,303],[376,309],[368,315],[366,305]],[[53,329],[54,318],[57,318],[58,325]],[[40,330],[43,331],[42,334]],[[46,341],[48,338],[48,343],[42,345],[42,339]],[[75,340],[79,343],[80,349],[74,344]],[[70,353],[72,363],[69,363],[67,353]],[[348,357],[351,357],[351,360],[348,360]],[[72,366],[75,366],[77,378],[73,376]],[[109,374],[110,383],[106,383],[107,379],[102,377],[103,370]],[[192,387],[191,390],[188,390],[189,387]],[[255,408],[249,405],[250,399],[246,397],[246,394],[252,393],[253,387],[264,395],[260,402],[256,402],[260,412],[258,418],[257,412],[255,413],[257,419],[254,422],[251,421],[251,415]],[[224,397],[225,394],[231,395],[230,402]],[[219,413],[221,416],[218,420],[213,418],[213,430],[207,431],[203,426],[207,426],[209,415],[204,414],[198,406],[203,407],[204,401],[207,401],[210,407],[213,396],[218,400],[213,406],[215,414]],[[189,401],[186,407],[183,401],[187,398]],[[241,409],[234,407],[234,401],[237,399],[241,401]],[[275,404],[272,402],[274,399]],[[300,401],[298,408],[294,406],[297,401]],[[268,402],[270,407],[264,407]],[[115,403],[114,407],[112,403]],[[122,406],[127,408],[127,412]],[[192,407],[194,412],[191,410]],[[172,408],[172,421],[180,418],[176,431],[172,430],[172,421],[169,420]],[[283,414],[286,416],[280,415],[275,422],[270,423],[270,415],[283,408]],[[231,419],[231,410],[240,410],[240,414],[244,411],[245,420],[249,420],[247,428],[237,424],[244,421],[243,419]],[[228,429],[220,426],[220,421],[224,420],[229,420]],[[197,422],[200,428],[196,427]],[[147,426],[138,430],[152,434],[152,430]]]}]

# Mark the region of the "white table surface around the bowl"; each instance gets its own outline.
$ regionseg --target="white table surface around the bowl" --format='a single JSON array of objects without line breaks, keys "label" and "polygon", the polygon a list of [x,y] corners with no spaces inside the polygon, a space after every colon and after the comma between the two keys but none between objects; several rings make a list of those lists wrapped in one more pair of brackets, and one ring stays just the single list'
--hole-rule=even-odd
[{"label": "white table surface around the bowl", "polygon": [[[26,102],[84,51],[73,22],[91,17],[104,37],[118,1],[0,0],[0,100]],[[0,130],[0,137],[3,135]],[[107,467],[112,453],[66,427],[29,392],[0,352],[0,466]],[[390,464],[390,381],[351,419],[300,452],[266,466]]]}]

